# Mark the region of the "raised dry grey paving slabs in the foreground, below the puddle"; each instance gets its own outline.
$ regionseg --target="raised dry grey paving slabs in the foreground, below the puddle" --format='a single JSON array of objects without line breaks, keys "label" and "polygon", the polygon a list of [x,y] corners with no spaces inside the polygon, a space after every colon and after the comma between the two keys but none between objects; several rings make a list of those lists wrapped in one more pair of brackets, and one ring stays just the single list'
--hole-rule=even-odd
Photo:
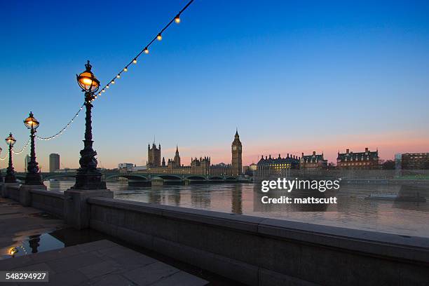
[{"label": "raised dry grey paving slabs in the foreground, below the puddle", "polygon": [[[206,285],[207,281],[109,240],[0,261],[0,270],[48,271],[40,285]],[[5,285],[13,283],[5,283]],[[28,283],[21,283],[27,285]],[[15,284],[19,285],[19,284]],[[35,285],[34,282],[31,285]]]}]

